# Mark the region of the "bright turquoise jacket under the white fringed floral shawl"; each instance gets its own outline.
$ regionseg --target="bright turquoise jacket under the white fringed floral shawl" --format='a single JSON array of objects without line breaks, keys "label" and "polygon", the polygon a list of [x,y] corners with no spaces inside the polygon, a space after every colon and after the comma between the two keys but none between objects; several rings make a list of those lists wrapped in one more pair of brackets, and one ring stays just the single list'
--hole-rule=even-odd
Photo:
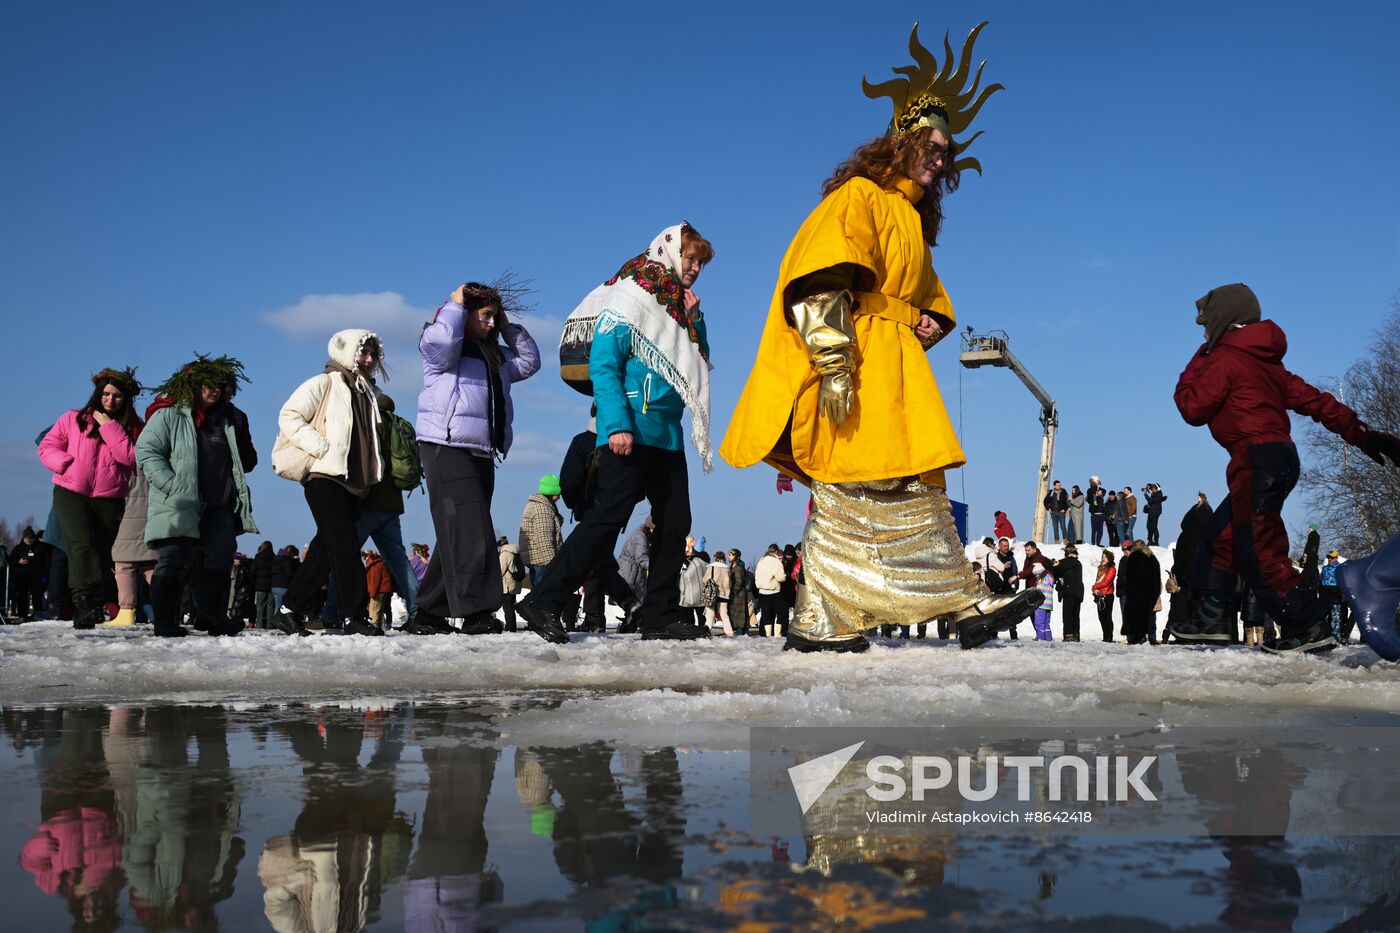
[{"label": "bright turquoise jacket under the white fringed floral shawl", "polygon": [[[696,321],[696,333],[706,359],[710,342],[704,318]],[[685,450],[680,416],[686,403],[659,373],[631,354],[631,328],[622,325],[608,333],[595,333],[588,353],[588,377],[598,403],[598,445],[617,433],[631,434],[634,444],[661,450]]]}]

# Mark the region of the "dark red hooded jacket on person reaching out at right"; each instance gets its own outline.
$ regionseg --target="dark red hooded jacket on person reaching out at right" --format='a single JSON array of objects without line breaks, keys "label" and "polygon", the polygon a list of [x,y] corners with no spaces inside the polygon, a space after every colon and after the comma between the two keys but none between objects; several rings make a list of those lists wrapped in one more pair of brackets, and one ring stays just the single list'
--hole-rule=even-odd
[{"label": "dark red hooded jacket on person reaching out at right", "polygon": [[1187,424],[1208,424],[1226,450],[1292,441],[1288,412],[1306,415],[1348,443],[1365,430],[1357,413],[1284,368],[1288,338],[1273,321],[1229,331],[1205,345],[1176,382],[1176,408]]}]

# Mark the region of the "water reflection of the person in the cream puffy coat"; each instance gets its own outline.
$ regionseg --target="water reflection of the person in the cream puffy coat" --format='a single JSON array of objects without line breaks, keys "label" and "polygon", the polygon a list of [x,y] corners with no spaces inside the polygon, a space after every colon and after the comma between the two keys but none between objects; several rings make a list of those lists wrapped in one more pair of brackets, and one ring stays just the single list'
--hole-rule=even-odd
[{"label": "water reflection of the person in the cream puffy coat", "polygon": [[395,808],[403,741],[391,721],[360,765],[364,723],[326,710],[273,727],[304,763],[305,803],[290,835],[258,859],[263,911],[279,933],[358,930],[403,874],[412,828]]}]

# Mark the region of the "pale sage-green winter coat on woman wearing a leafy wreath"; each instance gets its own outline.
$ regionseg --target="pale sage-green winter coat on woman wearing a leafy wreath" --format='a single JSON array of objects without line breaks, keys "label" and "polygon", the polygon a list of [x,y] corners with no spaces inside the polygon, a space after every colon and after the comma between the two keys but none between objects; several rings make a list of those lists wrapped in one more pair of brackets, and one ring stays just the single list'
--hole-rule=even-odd
[{"label": "pale sage-green winter coat on woman wearing a leafy wreath", "polygon": [[[234,488],[238,502],[238,534],[253,534],[253,502],[244,475],[242,457],[232,419],[224,420],[228,451],[234,464]],[[199,438],[195,417],[188,408],[162,408],[146,422],[136,441],[136,462],[151,486],[146,520],[146,544],[167,538],[199,538],[199,520],[204,503],[199,500]]]}]

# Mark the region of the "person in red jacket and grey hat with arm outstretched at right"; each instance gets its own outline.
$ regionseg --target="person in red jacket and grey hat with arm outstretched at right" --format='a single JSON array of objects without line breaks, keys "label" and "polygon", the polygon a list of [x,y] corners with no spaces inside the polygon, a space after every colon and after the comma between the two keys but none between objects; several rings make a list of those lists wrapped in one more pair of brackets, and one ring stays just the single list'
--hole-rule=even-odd
[{"label": "person in red jacket and grey hat with arm outstretched at right", "polygon": [[1280,635],[1264,650],[1326,651],[1336,642],[1327,605],[1299,586],[1288,559],[1284,500],[1298,482],[1298,448],[1288,413],[1306,415],[1378,464],[1400,465],[1400,438],[1373,431],[1354,410],[1284,368],[1288,339],[1260,319],[1259,298],[1245,284],[1211,290],[1196,303],[1205,343],[1176,384],[1176,408],[1187,424],[1208,426],[1229,452],[1229,495],[1207,528],[1207,546],[1193,567],[1194,607],[1172,629],[1182,642],[1225,643],[1235,576],[1254,588]]}]

